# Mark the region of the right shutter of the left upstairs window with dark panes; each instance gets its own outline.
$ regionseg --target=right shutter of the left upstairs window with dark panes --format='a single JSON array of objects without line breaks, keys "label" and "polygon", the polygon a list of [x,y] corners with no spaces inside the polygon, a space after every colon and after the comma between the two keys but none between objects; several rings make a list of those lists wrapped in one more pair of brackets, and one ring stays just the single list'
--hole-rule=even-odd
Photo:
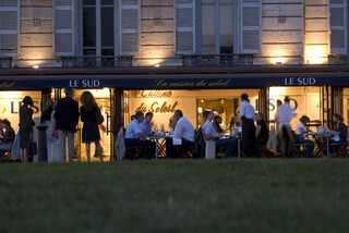
[{"label": "right shutter of the left upstairs window with dark panes", "polygon": [[141,34],[141,1],[120,0],[119,7],[119,28],[120,47],[122,56],[135,56],[140,53]]}]

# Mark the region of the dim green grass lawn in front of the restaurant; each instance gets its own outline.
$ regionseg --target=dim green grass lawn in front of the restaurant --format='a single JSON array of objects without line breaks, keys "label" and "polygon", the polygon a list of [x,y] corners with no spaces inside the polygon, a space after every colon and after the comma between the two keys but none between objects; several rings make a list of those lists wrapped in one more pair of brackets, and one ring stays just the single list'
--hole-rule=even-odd
[{"label": "dim green grass lawn in front of the restaurant", "polygon": [[0,232],[349,232],[349,159],[0,164]]}]

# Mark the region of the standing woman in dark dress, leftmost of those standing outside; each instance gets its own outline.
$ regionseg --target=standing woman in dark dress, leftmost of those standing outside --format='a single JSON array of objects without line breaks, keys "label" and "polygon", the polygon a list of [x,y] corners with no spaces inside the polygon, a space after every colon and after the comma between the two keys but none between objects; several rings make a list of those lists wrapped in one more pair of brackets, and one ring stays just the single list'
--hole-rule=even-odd
[{"label": "standing woman in dark dress, leftmost of those standing outside", "polygon": [[28,161],[27,147],[29,138],[33,137],[33,99],[29,96],[24,97],[23,105],[20,108],[20,136],[21,136],[21,160],[23,163]]}]

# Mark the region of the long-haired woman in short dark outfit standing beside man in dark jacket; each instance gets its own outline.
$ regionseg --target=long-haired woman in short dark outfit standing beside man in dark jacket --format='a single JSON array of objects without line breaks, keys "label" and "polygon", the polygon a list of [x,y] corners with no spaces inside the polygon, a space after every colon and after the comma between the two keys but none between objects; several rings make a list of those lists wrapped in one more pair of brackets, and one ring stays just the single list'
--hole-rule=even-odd
[{"label": "long-haired woman in short dark outfit standing beside man in dark jacket", "polygon": [[[82,142],[86,144],[87,161],[91,161],[91,143],[96,144],[96,151],[103,161],[103,152],[100,146],[99,128],[96,120],[96,114],[100,113],[94,96],[89,91],[84,91],[81,96],[83,106],[80,108],[81,121],[84,123]],[[97,113],[96,113],[97,112]]]}]

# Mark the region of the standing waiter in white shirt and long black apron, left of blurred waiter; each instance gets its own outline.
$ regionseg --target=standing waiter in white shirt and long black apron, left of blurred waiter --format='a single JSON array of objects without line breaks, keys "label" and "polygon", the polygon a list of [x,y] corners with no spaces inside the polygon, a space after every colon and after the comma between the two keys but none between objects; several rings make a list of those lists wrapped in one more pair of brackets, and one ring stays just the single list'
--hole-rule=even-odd
[{"label": "standing waiter in white shirt and long black apron, left of blurred waiter", "polygon": [[241,95],[240,114],[242,120],[242,150],[246,157],[254,157],[255,126],[254,108],[249,102],[248,94]]}]

